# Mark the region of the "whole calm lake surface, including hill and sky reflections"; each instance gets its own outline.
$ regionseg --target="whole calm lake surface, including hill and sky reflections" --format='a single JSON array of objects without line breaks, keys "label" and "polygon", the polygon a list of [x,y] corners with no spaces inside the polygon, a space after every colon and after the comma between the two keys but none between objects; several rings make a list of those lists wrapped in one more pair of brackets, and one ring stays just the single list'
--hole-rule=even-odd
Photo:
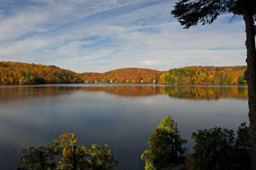
[{"label": "whole calm lake surface, including hill and sky reflections", "polygon": [[192,151],[192,132],[237,130],[247,118],[247,87],[58,84],[0,87],[0,169],[18,167],[20,148],[62,132],[79,143],[108,143],[118,169],[143,169],[147,139],[168,114]]}]

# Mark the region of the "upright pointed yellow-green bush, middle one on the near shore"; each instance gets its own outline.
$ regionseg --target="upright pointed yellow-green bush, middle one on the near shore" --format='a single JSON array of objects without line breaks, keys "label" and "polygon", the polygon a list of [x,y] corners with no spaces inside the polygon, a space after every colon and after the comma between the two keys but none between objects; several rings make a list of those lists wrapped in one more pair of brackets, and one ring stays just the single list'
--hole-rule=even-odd
[{"label": "upright pointed yellow-green bush, middle one on the near shore", "polygon": [[148,140],[150,150],[141,155],[146,162],[145,169],[164,168],[179,162],[185,154],[184,143],[187,141],[180,138],[176,122],[171,116],[165,117]]}]

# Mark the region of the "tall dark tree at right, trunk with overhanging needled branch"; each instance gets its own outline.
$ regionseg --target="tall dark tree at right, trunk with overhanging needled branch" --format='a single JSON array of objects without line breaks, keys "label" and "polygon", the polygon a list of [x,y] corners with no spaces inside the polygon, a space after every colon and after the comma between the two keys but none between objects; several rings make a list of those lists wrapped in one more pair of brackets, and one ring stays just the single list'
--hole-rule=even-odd
[{"label": "tall dark tree at right, trunk with overhanging needled branch", "polygon": [[255,0],[179,0],[171,11],[178,22],[189,28],[198,23],[211,24],[218,15],[227,12],[243,15],[246,32],[247,69],[245,80],[248,84],[250,138],[253,154],[251,169],[256,169],[256,1]]}]

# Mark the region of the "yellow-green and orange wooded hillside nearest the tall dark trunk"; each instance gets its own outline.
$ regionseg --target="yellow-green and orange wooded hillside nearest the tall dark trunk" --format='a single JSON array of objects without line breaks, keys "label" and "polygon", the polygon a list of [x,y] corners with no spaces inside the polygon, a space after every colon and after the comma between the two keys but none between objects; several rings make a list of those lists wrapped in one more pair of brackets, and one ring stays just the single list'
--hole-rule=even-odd
[{"label": "yellow-green and orange wooded hillside nearest the tall dark trunk", "polygon": [[158,75],[159,84],[246,84],[243,79],[246,66],[212,67],[190,66],[171,69]]}]

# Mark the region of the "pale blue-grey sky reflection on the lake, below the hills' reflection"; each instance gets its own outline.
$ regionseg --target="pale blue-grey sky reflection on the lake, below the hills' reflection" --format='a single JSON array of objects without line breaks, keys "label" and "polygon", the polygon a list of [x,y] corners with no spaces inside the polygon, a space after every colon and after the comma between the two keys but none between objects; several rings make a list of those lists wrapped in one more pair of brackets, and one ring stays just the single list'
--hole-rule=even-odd
[{"label": "pale blue-grey sky reflection on the lake, below the hills' reflection", "polygon": [[[72,131],[86,145],[109,143],[120,168],[135,169],[137,156],[147,148],[148,136],[167,114],[177,122],[181,136],[188,139],[188,147],[193,143],[191,133],[197,129],[237,129],[240,122],[247,121],[246,100],[181,100],[167,95],[129,97],[104,91],[60,91],[62,95],[35,95],[0,104],[1,167],[14,164],[19,147],[43,145],[63,131]],[[26,96],[26,91],[22,95]],[[141,160],[139,166],[143,166]]]}]

